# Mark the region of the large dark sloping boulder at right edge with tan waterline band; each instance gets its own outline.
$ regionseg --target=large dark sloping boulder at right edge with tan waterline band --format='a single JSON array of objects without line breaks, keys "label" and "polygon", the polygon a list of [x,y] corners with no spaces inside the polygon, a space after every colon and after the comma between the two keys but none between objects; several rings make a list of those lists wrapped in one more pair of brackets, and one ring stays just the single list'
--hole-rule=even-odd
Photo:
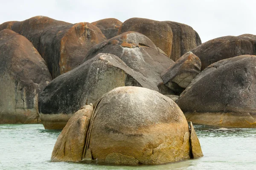
[{"label": "large dark sloping boulder at right edge with tan waterline band", "polygon": [[192,81],[177,104],[188,121],[227,127],[256,127],[256,56],[216,62]]}]

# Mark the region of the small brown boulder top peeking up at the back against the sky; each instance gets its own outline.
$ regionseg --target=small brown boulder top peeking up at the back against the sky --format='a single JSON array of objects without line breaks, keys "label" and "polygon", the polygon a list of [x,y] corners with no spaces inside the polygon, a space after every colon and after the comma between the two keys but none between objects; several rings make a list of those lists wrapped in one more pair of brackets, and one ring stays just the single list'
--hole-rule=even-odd
[{"label": "small brown boulder top peeking up at the back against the sky", "polygon": [[122,25],[122,22],[115,18],[106,18],[103,20],[95,21],[91,24],[97,26],[107,39],[111,39],[118,35],[118,30]]}]

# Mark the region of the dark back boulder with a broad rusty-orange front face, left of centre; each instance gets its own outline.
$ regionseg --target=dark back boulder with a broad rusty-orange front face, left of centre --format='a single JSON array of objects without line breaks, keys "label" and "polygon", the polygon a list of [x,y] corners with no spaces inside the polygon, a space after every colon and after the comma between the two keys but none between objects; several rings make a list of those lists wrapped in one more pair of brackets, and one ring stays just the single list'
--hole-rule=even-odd
[{"label": "dark back boulder with a broad rusty-orange front face, left of centre", "polygon": [[44,30],[39,52],[54,79],[81,65],[84,54],[105,40],[100,29],[90,23],[58,26]]}]

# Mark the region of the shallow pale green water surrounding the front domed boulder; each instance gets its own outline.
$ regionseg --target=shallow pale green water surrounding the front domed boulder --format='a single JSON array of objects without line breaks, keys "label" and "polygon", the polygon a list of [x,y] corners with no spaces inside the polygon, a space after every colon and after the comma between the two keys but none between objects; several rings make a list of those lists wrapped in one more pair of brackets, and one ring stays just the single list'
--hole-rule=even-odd
[{"label": "shallow pale green water surrounding the front domed boulder", "polygon": [[0,125],[0,170],[256,170],[256,129],[194,125],[204,157],[163,165],[110,166],[50,162],[60,130]]}]

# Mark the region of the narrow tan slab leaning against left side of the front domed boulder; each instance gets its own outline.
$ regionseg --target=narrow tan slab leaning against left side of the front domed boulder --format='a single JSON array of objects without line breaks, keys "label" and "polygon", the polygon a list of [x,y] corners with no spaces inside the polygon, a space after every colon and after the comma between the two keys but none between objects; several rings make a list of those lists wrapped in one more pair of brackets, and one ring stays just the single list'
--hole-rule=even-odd
[{"label": "narrow tan slab leaning against left side of the front domed boulder", "polygon": [[58,136],[51,161],[81,161],[92,114],[90,105],[74,113]]}]

